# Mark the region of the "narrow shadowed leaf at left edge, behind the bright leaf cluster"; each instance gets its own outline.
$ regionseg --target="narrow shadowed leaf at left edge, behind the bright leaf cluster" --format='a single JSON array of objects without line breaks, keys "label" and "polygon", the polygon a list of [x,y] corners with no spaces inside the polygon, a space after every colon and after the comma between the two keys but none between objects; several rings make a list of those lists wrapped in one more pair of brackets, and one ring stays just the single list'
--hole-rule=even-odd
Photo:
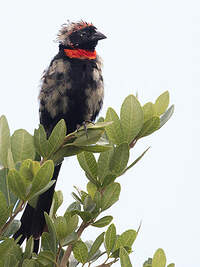
[{"label": "narrow shadowed leaf at left edge, behind the bright leaf cluster", "polygon": [[7,205],[14,206],[17,201],[17,197],[9,190],[7,173],[8,173],[7,169],[0,170],[0,190],[4,193]]}]

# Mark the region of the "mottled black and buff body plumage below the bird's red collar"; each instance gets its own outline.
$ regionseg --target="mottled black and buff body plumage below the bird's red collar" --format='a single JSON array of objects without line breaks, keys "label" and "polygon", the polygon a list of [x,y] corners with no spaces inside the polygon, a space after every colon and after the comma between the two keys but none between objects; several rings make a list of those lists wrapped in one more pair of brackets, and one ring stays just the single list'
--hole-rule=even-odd
[{"label": "mottled black and buff body plumage below the bird's red collar", "polygon": [[39,95],[40,121],[48,134],[64,118],[68,132],[94,120],[103,103],[101,61],[69,59],[62,51],[44,73]]}]

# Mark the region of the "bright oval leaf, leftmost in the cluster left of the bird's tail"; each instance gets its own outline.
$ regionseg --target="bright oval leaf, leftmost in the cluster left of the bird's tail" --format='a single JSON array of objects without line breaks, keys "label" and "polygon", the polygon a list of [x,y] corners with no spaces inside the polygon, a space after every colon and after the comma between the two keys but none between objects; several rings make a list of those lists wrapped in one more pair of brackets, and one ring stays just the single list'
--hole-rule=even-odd
[{"label": "bright oval leaf, leftmost in the cluster left of the bird's tail", "polygon": [[27,186],[26,181],[20,176],[19,172],[15,169],[9,170],[8,185],[12,192],[21,200],[26,200]]}]

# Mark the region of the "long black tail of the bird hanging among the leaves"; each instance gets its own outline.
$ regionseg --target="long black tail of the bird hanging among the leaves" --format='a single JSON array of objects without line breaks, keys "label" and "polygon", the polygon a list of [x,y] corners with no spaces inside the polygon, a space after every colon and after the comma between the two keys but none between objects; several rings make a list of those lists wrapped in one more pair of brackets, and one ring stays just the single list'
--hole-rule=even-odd
[{"label": "long black tail of the bird hanging among the leaves", "polygon": [[[55,167],[52,180],[57,180],[60,167],[61,164]],[[19,245],[23,243],[25,238],[28,239],[30,236],[33,236],[35,253],[38,252],[39,239],[44,232],[46,225],[44,212],[49,213],[50,211],[55,185],[56,182],[46,192],[38,197],[36,208],[31,207],[29,204],[26,205],[20,220],[21,226],[13,236],[14,239],[17,239],[19,236],[21,236],[18,241]]]}]

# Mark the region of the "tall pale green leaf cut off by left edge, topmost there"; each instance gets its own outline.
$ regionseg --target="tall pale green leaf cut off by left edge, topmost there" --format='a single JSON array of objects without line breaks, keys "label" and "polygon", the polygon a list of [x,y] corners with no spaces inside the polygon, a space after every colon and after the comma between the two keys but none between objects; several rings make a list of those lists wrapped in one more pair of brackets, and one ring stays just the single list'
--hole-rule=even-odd
[{"label": "tall pale green leaf cut off by left edge, topmost there", "polygon": [[8,149],[10,148],[10,129],[8,121],[3,115],[0,117],[0,165],[8,167]]}]

